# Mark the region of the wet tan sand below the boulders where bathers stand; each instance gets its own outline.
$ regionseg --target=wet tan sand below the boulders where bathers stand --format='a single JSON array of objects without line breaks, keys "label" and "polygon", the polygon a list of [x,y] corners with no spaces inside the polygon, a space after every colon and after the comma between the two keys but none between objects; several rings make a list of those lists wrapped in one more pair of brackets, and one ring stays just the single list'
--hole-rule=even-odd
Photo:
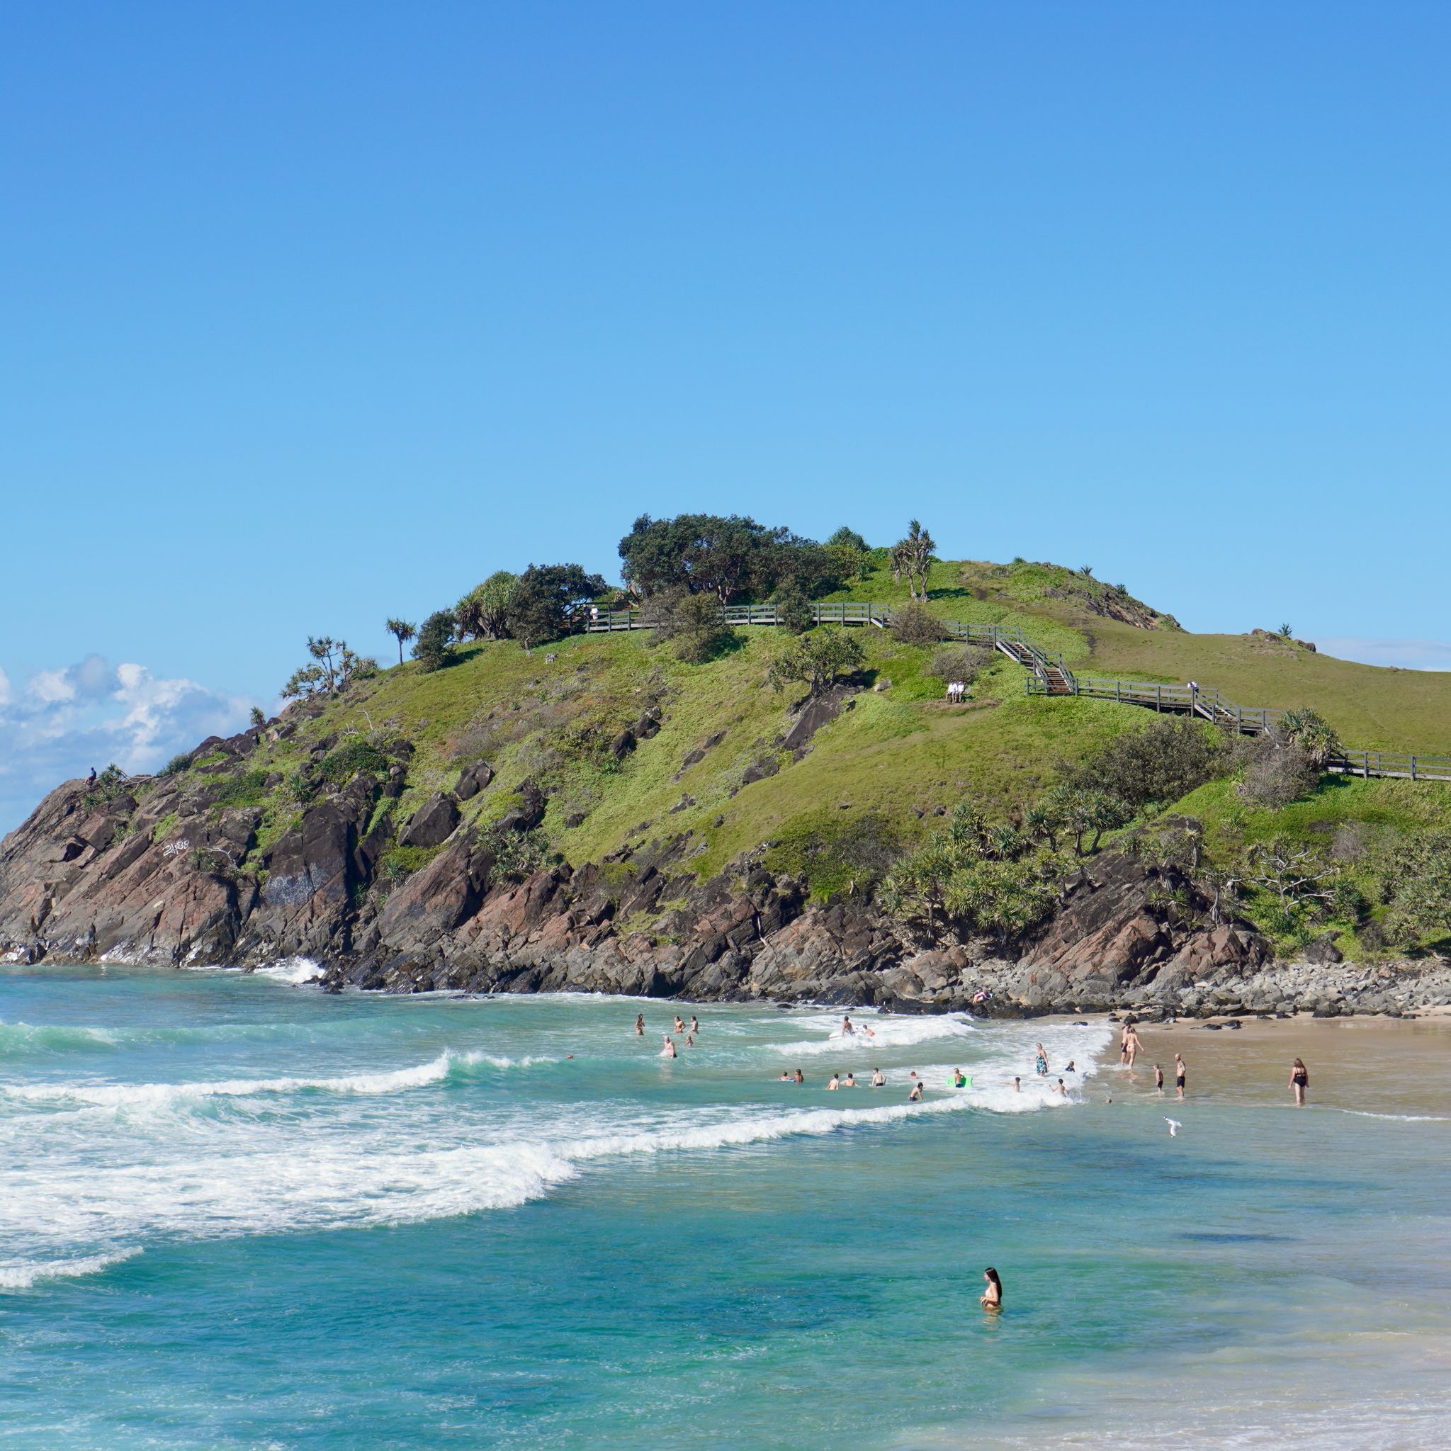
[{"label": "wet tan sand below the boulders where bathers stand", "polygon": [[[1188,1068],[1185,1107],[1214,1100],[1293,1110],[1290,1065],[1302,1058],[1310,1075],[1307,1107],[1451,1117],[1451,1014],[1241,1022],[1239,1029],[1217,1032],[1200,1019],[1139,1023],[1143,1052],[1133,1072],[1119,1066],[1116,1036],[1100,1058],[1090,1097],[1152,1097],[1154,1065],[1161,1064],[1164,1097],[1172,1100],[1180,1052]],[[1110,1026],[1117,1035],[1120,1024]]]}]

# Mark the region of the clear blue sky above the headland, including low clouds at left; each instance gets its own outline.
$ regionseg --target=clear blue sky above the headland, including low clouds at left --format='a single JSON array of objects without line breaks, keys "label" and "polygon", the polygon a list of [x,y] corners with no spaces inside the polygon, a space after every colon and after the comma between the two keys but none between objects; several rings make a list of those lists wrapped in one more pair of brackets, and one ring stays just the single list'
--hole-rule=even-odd
[{"label": "clear blue sky above the headland, including low clouds at left", "polygon": [[920,515],[1451,667],[1448,44],[1444,4],[6,6],[0,827],[270,704],[308,633],[614,576],[643,511]]}]

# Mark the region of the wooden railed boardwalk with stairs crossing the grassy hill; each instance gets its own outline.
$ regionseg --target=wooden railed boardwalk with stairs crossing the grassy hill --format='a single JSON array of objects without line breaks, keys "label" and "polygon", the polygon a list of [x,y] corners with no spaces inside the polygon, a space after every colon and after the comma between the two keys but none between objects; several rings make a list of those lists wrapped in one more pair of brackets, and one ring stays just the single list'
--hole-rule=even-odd
[{"label": "wooden railed boardwalk with stairs crossing the grassy hill", "polygon": [[[887,630],[892,622],[891,605],[866,602],[814,604],[811,618],[818,625],[869,625]],[[601,611],[583,607],[575,614],[576,627],[588,634],[615,630],[650,630],[638,609]],[[727,605],[728,625],[775,625],[775,605]],[[940,620],[953,640],[981,644],[1006,654],[1027,670],[1029,695],[1085,695],[1117,701],[1175,715],[1197,715],[1226,730],[1245,736],[1271,730],[1288,714],[1274,705],[1236,705],[1223,691],[1201,685],[1161,685],[1155,681],[1117,681],[1103,676],[1074,675],[1064,657],[1043,649],[1016,625],[972,625],[961,620]],[[1402,781],[1451,781],[1451,756],[1410,755],[1390,750],[1342,750],[1326,770],[1347,776],[1384,776]]]}]

